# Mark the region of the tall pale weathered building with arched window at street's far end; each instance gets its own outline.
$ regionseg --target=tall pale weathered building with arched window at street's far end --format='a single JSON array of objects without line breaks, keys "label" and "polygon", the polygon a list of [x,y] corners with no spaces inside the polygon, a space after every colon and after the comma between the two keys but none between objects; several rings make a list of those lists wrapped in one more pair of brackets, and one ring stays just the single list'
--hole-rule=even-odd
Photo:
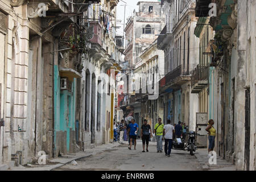
[{"label": "tall pale weathered building with arched window at street's far end", "polygon": [[[124,73],[130,73],[131,77],[134,77],[133,74],[135,72],[139,73],[135,69],[137,67],[136,65],[142,63],[140,56],[153,44],[160,30],[164,27],[164,16],[160,13],[159,2],[139,1],[137,6],[139,6],[139,11],[135,12],[134,10],[133,16],[129,17],[125,27],[126,48],[123,55],[125,55],[127,68]],[[126,94],[124,98],[127,103],[125,103],[122,109],[126,112],[125,116],[133,112],[135,119],[141,122],[141,103],[135,100],[135,82],[129,82],[129,79],[127,79],[129,83],[127,88],[132,88],[134,92],[132,94]],[[146,79],[144,78],[144,80]]]}]

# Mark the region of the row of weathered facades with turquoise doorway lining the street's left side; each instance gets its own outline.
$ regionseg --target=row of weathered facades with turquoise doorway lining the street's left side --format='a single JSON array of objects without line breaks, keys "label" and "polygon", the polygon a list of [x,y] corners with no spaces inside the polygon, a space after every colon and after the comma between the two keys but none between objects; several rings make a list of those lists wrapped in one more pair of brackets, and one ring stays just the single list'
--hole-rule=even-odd
[{"label": "row of weathered facades with turquoise doorway lining the street's left side", "polygon": [[113,141],[118,2],[0,1],[0,164]]}]

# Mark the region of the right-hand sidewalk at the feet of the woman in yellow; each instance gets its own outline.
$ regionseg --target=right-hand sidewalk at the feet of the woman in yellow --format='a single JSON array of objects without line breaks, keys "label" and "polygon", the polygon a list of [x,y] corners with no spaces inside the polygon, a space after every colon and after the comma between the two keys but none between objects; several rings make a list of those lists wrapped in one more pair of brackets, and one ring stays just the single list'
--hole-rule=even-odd
[{"label": "right-hand sidewalk at the feet of the woman in yellow", "polygon": [[217,164],[209,164],[208,149],[199,148],[195,152],[195,156],[204,171],[236,171],[236,166],[217,156]]}]

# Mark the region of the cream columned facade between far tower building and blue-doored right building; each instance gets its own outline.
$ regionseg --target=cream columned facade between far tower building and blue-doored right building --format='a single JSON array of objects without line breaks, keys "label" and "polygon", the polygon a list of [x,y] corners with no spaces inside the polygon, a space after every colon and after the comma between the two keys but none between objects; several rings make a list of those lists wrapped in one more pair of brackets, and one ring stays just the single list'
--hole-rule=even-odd
[{"label": "cream columned facade between far tower building and blue-doored right building", "polygon": [[[151,86],[151,90],[158,92],[159,80],[163,77],[164,52],[157,49],[156,41],[146,48],[140,56],[140,61],[135,65],[134,86],[135,95],[131,98],[138,102],[139,109],[134,109],[134,117],[138,115],[139,126],[143,125],[143,120],[147,119],[148,124],[152,127],[158,122],[158,118],[163,118],[162,101],[150,100],[148,95],[155,93],[146,93],[146,89]],[[148,91],[148,90],[147,90]],[[148,91],[150,92],[150,91]],[[158,94],[158,93],[156,93]]]}]

